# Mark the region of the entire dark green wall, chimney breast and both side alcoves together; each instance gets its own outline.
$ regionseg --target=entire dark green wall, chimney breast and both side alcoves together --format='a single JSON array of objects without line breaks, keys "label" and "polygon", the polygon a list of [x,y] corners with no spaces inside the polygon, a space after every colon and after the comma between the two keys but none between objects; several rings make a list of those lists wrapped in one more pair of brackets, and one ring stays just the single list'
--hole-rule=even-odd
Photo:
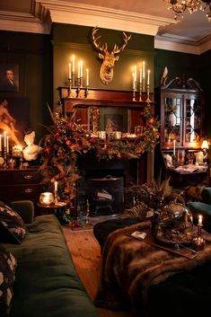
[{"label": "entire dark green wall, chimney breast and both side alcoves together", "polygon": [[[20,71],[20,91],[0,92],[2,97],[27,98],[30,108],[30,127],[36,131],[37,140],[51,124],[46,102],[57,104],[57,86],[67,84],[68,63],[73,54],[84,59],[84,68],[90,68],[90,86],[99,89],[131,90],[132,67],[145,59],[152,71],[150,90],[159,85],[164,66],[169,69],[169,79],[186,75],[198,81],[206,96],[206,131],[211,137],[209,122],[211,107],[209,70],[211,51],[201,56],[154,49],[154,37],[132,33],[127,48],[121,52],[114,69],[113,82],[104,85],[100,79],[101,60],[92,47],[92,28],[55,23],[51,35],[0,31],[0,63],[17,64]],[[101,43],[109,48],[122,43],[122,32],[100,29]],[[41,125],[40,125],[41,124]]]}]

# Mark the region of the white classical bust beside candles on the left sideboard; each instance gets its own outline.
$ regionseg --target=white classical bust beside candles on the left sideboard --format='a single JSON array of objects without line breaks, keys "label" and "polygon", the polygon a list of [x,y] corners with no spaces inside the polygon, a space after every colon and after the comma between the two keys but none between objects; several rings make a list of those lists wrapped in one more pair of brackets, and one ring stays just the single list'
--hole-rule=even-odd
[{"label": "white classical bust beside candles on the left sideboard", "polygon": [[24,142],[26,143],[26,147],[23,149],[22,154],[23,158],[26,161],[36,160],[42,150],[40,145],[34,144],[35,132],[31,129],[25,132]]}]

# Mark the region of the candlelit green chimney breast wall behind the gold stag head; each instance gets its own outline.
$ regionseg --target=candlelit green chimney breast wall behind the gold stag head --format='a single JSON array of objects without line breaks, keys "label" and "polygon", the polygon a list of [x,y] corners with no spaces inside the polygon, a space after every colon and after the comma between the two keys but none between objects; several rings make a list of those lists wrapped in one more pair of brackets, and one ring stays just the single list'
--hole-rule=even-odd
[{"label": "candlelit green chimney breast wall behind the gold stag head", "polygon": [[[84,26],[55,23],[52,28],[52,43],[54,51],[54,100],[57,103],[57,86],[67,84],[68,63],[72,56],[76,60],[83,59],[84,69],[90,70],[90,87],[110,90],[132,90],[132,70],[137,68],[143,60],[146,69],[151,69],[150,91],[154,91],[154,37],[132,33],[127,47],[120,53],[119,61],[115,63],[113,81],[109,85],[101,82],[101,59],[98,51],[92,46],[92,28]],[[127,33],[129,34],[129,33]],[[107,42],[108,50],[112,50],[115,43],[119,47],[123,43],[121,31],[100,29],[101,44]],[[137,72],[138,73],[138,72]]]}]

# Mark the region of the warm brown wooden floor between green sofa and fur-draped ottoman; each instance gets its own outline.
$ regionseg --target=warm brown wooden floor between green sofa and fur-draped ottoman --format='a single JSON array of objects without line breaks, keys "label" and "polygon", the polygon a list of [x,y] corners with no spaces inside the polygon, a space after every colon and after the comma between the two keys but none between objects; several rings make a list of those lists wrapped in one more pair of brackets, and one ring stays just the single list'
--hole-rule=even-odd
[{"label": "warm brown wooden floor between green sofa and fur-draped ottoman", "polygon": [[[96,241],[92,229],[73,231],[70,227],[63,226],[63,231],[75,263],[75,269],[93,301],[101,278],[100,245]],[[114,312],[100,308],[97,310],[101,317],[134,317],[134,314],[129,311]]]}]

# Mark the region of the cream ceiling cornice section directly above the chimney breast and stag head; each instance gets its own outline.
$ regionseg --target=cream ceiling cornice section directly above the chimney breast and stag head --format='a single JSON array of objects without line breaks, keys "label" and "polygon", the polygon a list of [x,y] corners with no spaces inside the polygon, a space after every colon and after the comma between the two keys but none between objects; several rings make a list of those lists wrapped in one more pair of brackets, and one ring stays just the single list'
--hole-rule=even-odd
[{"label": "cream ceiling cornice section directly above the chimney breast and stag head", "polygon": [[61,0],[36,0],[48,9],[52,22],[84,26],[98,26],[105,29],[130,31],[154,36],[161,26],[175,23],[174,19],[154,17],[141,13],[112,10],[90,4],[75,4]]}]

